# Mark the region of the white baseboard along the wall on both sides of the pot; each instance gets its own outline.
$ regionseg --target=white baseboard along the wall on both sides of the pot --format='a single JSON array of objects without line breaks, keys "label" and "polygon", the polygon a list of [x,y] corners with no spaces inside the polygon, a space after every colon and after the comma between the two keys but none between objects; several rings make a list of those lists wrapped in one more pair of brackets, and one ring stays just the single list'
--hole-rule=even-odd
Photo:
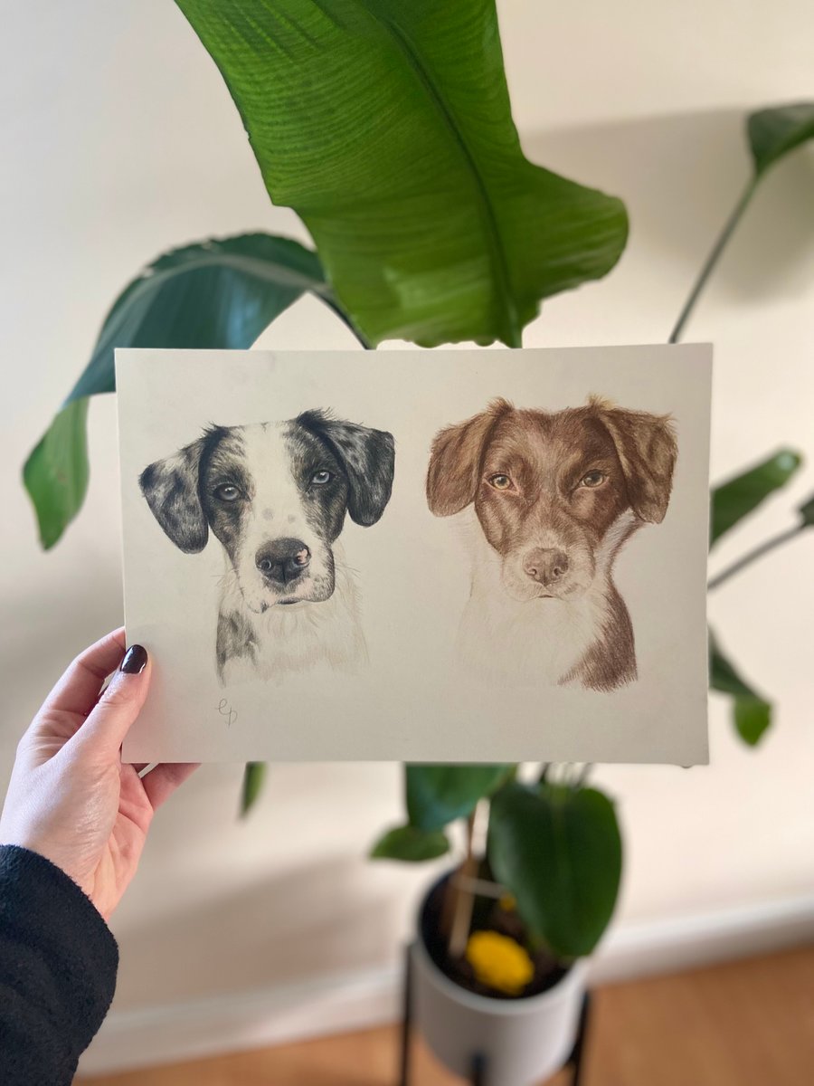
[{"label": "white baseboard along the wall on both sides of the pot", "polygon": [[[814,896],[622,924],[593,962],[598,983],[671,973],[814,939]],[[400,971],[383,968],[207,999],[113,1011],[84,1075],[278,1045],[395,1021]]]}]

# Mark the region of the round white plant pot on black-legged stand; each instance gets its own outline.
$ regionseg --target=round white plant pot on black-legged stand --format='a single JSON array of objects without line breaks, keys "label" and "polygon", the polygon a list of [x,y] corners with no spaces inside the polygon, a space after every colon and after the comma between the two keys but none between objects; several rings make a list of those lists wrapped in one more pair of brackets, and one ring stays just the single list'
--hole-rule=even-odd
[{"label": "round white plant pot on black-legged stand", "polygon": [[484,1086],[532,1086],[565,1063],[580,1026],[585,961],[539,995],[491,999],[442,973],[420,934],[410,955],[412,1023],[454,1074],[470,1078],[480,1055]]}]

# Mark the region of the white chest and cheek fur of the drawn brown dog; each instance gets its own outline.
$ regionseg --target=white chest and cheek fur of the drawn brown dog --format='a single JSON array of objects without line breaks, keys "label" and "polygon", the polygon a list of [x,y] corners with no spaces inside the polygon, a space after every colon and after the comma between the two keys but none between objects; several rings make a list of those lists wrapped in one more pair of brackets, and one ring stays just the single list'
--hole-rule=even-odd
[{"label": "white chest and cheek fur of the drawn brown dog", "polygon": [[473,520],[461,521],[472,558],[472,590],[458,639],[461,662],[485,678],[562,683],[605,627],[605,594],[589,590],[573,601],[512,599],[503,584],[500,557]]}]

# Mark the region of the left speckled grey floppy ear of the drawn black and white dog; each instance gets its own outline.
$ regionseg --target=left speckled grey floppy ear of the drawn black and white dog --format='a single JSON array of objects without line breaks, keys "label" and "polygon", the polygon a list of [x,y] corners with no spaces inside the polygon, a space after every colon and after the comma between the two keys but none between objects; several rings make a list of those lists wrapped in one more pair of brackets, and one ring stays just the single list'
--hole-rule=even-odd
[{"label": "left speckled grey floppy ear of the drawn black and white dog", "polygon": [[204,439],[175,456],[156,460],[139,476],[141,493],[153,516],[185,554],[203,551],[209,534],[201,502],[199,477]]}]

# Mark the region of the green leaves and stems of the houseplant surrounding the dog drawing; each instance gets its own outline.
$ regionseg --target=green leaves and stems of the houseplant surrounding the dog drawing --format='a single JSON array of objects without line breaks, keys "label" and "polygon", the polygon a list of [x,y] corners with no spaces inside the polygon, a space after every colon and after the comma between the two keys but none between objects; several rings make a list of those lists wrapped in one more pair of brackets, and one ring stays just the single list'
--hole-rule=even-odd
[{"label": "green leaves and stems of the houseplant surrounding the dog drawing", "polygon": [[[81,505],[88,397],[113,390],[114,345],[247,348],[305,291],[330,305],[366,346],[395,337],[425,346],[461,339],[519,345],[540,299],[609,272],[626,239],[619,200],[522,156],[492,2],[443,8],[370,0],[348,9],[335,0],[289,0],[272,11],[257,2],[179,5],[224,73],[269,193],[300,212],[317,252],[267,235],[212,240],[165,254],[128,286],[65,407],[26,464],[46,546]],[[755,186],[811,137],[813,125],[810,105],[761,111],[750,119],[753,178],[689,308]],[[733,509],[742,515],[761,493],[780,485],[797,463],[793,454],[780,454],[733,480],[729,520],[737,519]],[[803,523],[810,519],[804,514]],[[768,704],[717,651],[712,675],[716,689],[733,695],[740,733],[756,741],[768,723]],[[259,766],[246,771],[246,806],[262,772]],[[583,826],[585,796],[594,793],[582,780],[555,769],[539,788],[523,790],[508,779],[511,772],[500,767],[456,817],[471,813],[480,796],[492,796],[493,835],[500,833],[505,805],[507,824],[519,819],[522,829],[527,821],[536,848],[545,832],[540,810],[550,815],[567,805]],[[438,792],[448,798],[447,787],[449,782]],[[609,801],[600,799],[592,803],[610,825]],[[612,806],[610,815],[615,826]],[[410,816],[378,851],[407,858],[410,850],[438,849],[448,821],[433,826],[424,816],[420,822]],[[585,832],[589,843],[599,833]],[[505,860],[509,846],[499,839]],[[582,942],[562,943],[562,933],[551,936],[544,919],[561,909],[563,898],[546,899],[556,886],[548,868],[536,854],[520,855],[526,858],[518,871],[504,871],[497,859],[493,873],[512,889],[518,911],[532,918],[524,922],[543,925],[534,937],[563,958],[588,952],[612,911],[618,874],[597,895],[601,909],[592,913],[590,938],[582,932]],[[603,870],[613,873],[607,859]],[[593,886],[575,886],[581,902],[593,901]]]}]

